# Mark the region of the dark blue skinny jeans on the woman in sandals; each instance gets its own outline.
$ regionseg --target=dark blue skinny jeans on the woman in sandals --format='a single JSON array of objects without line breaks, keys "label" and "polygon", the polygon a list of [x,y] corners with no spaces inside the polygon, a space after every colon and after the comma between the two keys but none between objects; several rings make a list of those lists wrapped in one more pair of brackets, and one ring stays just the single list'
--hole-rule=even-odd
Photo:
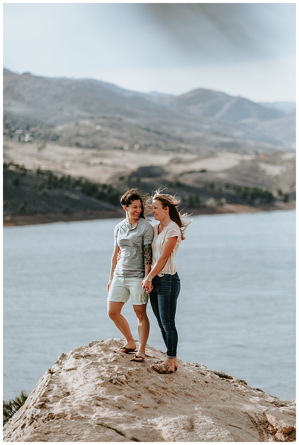
[{"label": "dark blue skinny jeans on the woman in sandals", "polygon": [[176,358],[177,332],[175,324],[176,302],[180,293],[180,278],[174,275],[156,275],[152,280],[153,290],[149,294],[152,310],[156,316],[167,348],[167,356]]}]

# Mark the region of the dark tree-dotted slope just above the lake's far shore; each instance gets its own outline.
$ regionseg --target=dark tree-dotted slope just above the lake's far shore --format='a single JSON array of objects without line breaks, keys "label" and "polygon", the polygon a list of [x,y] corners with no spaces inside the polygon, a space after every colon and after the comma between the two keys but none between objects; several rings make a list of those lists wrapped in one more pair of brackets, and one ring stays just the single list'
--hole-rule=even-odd
[{"label": "dark tree-dotted slope just above the lake's far shore", "polygon": [[[136,173],[127,178],[120,177],[118,183],[112,186],[91,182],[86,178],[56,175],[50,170],[27,170],[13,162],[4,163],[4,223],[46,222],[49,214],[57,214],[57,218],[50,218],[51,221],[61,220],[61,214],[64,220],[121,217],[123,211],[119,199],[124,190],[138,186],[141,193],[147,193],[159,187],[152,175],[142,180]],[[270,209],[275,208],[277,202],[289,201],[289,194],[281,190],[278,190],[278,198],[274,198],[268,190],[229,183],[220,187],[213,182],[206,182],[201,187],[194,187],[179,181],[168,181],[165,185],[168,193],[176,193],[181,198],[180,209],[184,207],[195,214],[214,213],[219,211],[219,207],[224,207],[225,212],[225,204],[258,208],[266,205],[265,209]]]}]

